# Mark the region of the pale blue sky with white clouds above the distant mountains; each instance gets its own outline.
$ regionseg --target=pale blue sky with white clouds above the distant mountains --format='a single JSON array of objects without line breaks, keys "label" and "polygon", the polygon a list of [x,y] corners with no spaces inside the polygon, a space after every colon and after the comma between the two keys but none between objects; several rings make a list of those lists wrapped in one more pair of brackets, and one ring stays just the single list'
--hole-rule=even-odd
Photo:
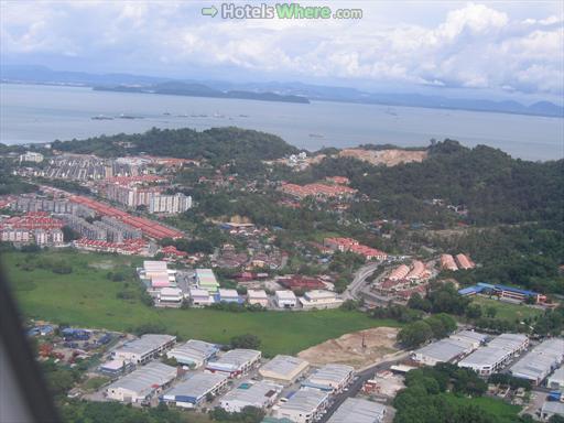
[{"label": "pale blue sky with white clouds above the distant mountains", "polygon": [[[262,2],[275,3],[235,3]],[[0,61],[370,91],[564,96],[564,1],[300,1],[361,9],[358,20],[202,15],[213,4],[221,2],[0,0]]]}]

